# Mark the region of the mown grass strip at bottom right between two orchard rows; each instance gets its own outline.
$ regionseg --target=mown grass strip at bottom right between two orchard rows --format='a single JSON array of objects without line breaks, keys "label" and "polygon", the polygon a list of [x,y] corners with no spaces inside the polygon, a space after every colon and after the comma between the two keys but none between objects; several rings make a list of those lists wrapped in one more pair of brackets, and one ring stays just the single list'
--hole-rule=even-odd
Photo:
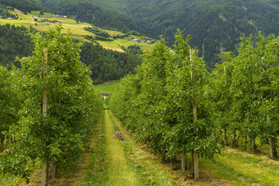
[{"label": "mown grass strip at bottom right between two orchard rows", "polygon": [[202,160],[202,167],[231,185],[279,185],[279,162],[267,155],[226,148],[213,160]]}]

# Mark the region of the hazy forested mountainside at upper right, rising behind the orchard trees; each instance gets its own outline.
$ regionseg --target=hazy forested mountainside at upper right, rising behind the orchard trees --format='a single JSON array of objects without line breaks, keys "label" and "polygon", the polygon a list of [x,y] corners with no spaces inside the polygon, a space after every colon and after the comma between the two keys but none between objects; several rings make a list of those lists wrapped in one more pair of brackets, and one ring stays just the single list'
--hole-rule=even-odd
[{"label": "hazy forested mountainside at upper right, rising behind the orchard trees", "polygon": [[192,36],[190,45],[199,49],[213,67],[218,54],[237,51],[240,37],[279,33],[279,3],[272,0],[90,0],[94,4],[127,15],[151,38],[163,34],[174,44],[179,28]]}]

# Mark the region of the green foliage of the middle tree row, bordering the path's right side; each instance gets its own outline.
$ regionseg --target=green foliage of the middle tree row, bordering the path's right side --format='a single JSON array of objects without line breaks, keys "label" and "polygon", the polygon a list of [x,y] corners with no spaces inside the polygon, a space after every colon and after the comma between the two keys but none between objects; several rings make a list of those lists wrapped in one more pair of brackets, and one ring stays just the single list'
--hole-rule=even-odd
[{"label": "green foliage of the middle tree row, bordering the path's right side", "polygon": [[175,38],[175,54],[161,38],[145,55],[137,74],[121,80],[110,107],[139,141],[149,144],[165,159],[193,151],[213,157],[218,146],[212,136],[216,127],[211,122],[207,96],[209,72],[197,52],[190,57],[190,39],[184,38],[181,31]]}]

